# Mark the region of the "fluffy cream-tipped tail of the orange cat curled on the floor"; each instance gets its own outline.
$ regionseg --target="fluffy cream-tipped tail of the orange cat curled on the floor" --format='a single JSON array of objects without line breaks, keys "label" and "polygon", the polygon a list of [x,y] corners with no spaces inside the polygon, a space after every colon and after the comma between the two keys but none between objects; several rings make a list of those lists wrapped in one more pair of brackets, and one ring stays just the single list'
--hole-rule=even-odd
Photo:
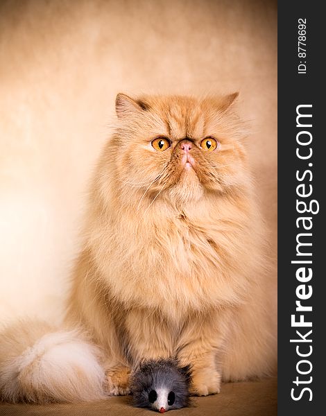
[{"label": "fluffy cream-tipped tail of the orange cat curled on the floor", "polygon": [[0,333],[0,400],[103,399],[104,382],[101,352],[81,331],[24,321]]}]

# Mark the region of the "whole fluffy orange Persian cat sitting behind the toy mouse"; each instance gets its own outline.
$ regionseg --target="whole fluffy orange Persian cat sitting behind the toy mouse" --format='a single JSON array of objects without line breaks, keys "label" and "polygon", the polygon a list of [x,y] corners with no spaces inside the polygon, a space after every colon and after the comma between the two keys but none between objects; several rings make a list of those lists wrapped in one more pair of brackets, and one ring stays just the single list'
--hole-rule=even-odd
[{"label": "whole fluffy orange Persian cat sitting behind the toy mouse", "polygon": [[118,94],[65,324],[1,334],[0,397],[124,395],[142,361],[190,365],[192,394],[275,365],[275,299],[237,94]]}]

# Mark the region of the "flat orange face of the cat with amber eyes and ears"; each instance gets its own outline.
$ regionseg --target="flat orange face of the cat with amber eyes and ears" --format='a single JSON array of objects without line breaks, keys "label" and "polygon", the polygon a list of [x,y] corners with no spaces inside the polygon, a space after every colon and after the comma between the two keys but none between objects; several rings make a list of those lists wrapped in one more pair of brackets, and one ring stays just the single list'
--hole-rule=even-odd
[{"label": "flat orange face of the cat with amber eyes and ears", "polygon": [[[246,180],[242,126],[230,106],[238,94],[202,100],[118,94],[114,146],[119,180],[164,198],[198,199]],[[128,185],[127,185],[128,186]]]}]

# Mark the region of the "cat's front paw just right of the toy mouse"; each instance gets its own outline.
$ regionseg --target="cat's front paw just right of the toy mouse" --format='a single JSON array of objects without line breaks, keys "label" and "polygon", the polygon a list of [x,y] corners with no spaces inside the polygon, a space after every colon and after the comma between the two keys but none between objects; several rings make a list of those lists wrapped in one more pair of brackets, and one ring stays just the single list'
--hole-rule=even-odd
[{"label": "cat's front paw just right of the toy mouse", "polygon": [[211,369],[195,370],[192,377],[192,396],[216,395],[221,390],[221,375]]}]

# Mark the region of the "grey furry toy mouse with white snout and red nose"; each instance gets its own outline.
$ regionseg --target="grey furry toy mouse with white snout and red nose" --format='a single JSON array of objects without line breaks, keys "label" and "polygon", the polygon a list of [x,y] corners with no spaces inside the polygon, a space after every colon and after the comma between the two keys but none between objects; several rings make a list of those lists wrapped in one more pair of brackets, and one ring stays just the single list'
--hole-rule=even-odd
[{"label": "grey furry toy mouse with white snout and red nose", "polygon": [[175,358],[143,361],[130,378],[135,407],[164,413],[189,406],[190,366]]}]

